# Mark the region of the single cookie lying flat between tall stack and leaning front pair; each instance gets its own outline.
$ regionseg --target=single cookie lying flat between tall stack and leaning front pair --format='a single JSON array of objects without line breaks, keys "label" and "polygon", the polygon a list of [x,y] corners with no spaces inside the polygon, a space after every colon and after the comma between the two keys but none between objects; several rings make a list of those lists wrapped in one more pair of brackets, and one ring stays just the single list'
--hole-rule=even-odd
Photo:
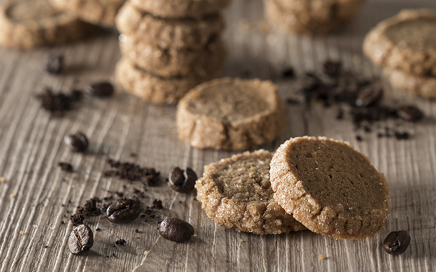
[{"label": "single cookie lying flat between tall stack and leaning front pair", "polygon": [[179,138],[193,147],[241,150],[275,139],[286,113],[271,81],[219,78],[179,101],[176,124]]}]

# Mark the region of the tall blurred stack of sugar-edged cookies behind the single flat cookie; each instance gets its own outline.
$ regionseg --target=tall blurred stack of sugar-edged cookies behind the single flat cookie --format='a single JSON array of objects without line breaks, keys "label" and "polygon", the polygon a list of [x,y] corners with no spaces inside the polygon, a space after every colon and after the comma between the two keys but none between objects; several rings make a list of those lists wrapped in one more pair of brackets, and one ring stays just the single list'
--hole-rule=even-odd
[{"label": "tall blurred stack of sugar-edged cookies behind the single flat cookie", "polygon": [[123,88],[152,103],[177,103],[219,76],[226,56],[220,11],[230,0],[128,0],[116,17]]}]

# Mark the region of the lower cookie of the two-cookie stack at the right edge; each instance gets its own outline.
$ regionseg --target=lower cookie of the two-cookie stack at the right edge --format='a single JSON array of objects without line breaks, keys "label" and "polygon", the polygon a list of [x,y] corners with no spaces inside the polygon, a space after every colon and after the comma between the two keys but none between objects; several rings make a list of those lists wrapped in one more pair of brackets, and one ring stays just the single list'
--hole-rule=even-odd
[{"label": "lower cookie of the two-cookie stack at the right edge", "polygon": [[384,68],[392,87],[427,99],[436,99],[436,76],[419,76],[402,70]]}]

